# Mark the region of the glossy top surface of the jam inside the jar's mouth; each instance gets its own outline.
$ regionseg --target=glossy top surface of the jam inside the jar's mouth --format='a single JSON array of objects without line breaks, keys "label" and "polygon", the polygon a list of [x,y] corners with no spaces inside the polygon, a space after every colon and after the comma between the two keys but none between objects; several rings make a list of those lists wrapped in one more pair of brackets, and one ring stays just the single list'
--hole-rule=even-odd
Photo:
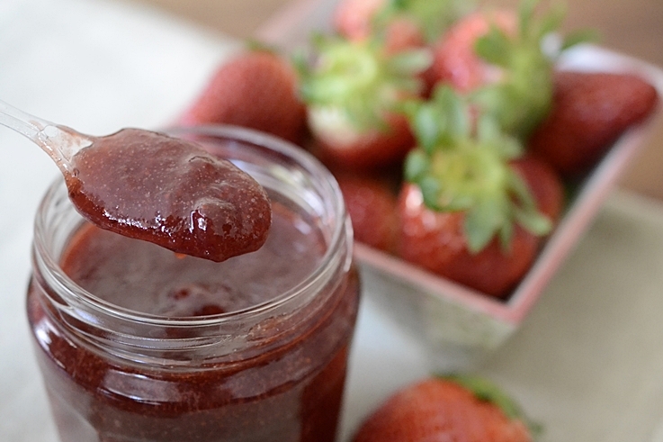
[{"label": "glossy top surface of the jam inside the jar's mouth", "polygon": [[87,224],[61,266],[89,293],[131,311],[181,318],[244,310],[299,284],[325,252],[324,239],[307,221],[280,204],[273,212],[262,248],[221,263]]}]

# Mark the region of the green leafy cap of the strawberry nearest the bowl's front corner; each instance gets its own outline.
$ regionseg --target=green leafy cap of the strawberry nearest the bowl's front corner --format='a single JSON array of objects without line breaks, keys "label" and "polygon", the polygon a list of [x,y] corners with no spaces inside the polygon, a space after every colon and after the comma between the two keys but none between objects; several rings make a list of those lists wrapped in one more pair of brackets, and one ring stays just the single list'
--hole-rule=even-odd
[{"label": "green leafy cap of the strawberry nearest the bowl's front corner", "polygon": [[428,208],[465,212],[463,233],[472,253],[496,235],[508,249],[515,223],[545,235],[551,221],[510,166],[523,155],[522,144],[493,115],[470,109],[448,86],[436,88],[428,102],[408,104],[417,149],[406,158],[406,179],[419,186]]}]

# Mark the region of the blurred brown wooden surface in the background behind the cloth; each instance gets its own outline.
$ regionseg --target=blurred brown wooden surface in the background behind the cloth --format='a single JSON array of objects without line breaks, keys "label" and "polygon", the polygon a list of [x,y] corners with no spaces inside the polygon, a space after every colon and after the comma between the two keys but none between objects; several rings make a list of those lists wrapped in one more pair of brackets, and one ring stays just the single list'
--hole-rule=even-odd
[{"label": "blurred brown wooden surface in the background behind the cloth", "polygon": [[[275,15],[302,0],[123,0],[154,5],[215,32],[237,38],[255,34]],[[335,0],[319,0],[335,1]],[[516,5],[492,0],[489,5]],[[567,0],[566,29],[587,27],[600,43],[663,67],[663,1]],[[663,122],[623,176],[622,185],[663,199]]]}]

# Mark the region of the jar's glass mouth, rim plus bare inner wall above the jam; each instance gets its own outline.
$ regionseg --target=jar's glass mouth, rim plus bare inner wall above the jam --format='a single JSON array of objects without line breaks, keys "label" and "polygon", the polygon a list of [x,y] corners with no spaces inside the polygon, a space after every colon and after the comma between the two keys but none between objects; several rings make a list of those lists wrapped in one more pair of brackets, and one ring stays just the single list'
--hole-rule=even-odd
[{"label": "jar's glass mouth, rim plus bare inner wall above the jam", "polygon": [[[164,131],[166,134],[174,137],[187,138],[192,140],[201,140],[203,146],[205,143],[213,142],[233,142],[237,143],[246,158],[227,158],[235,163],[237,167],[244,169],[249,175],[261,184],[265,185],[264,177],[255,176],[255,164],[251,163],[252,152],[269,152],[274,158],[282,161],[280,165],[269,167],[270,174],[276,174],[274,179],[287,177],[282,174],[288,173],[288,165],[294,167],[290,170],[297,176],[309,176],[308,184],[315,183],[316,188],[307,189],[304,194],[295,192],[293,197],[298,198],[298,204],[308,204],[306,210],[317,212],[319,222],[327,229],[326,249],[320,259],[319,265],[305,278],[297,284],[293,284],[290,289],[284,291],[273,299],[257,303],[250,307],[228,311],[224,313],[211,314],[206,316],[182,316],[168,317],[154,313],[135,311],[130,308],[116,305],[112,302],[86,291],[83,287],[76,284],[60,267],[59,256],[70,234],[75,232],[85,221],[69,202],[67,188],[62,178],[59,178],[49,187],[47,194],[40,203],[34,225],[34,248],[33,259],[35,266],[40,269],[41,275],[47,279],[47,284],[54,288],[56,293],[66,293],[68,307],[80,308],[84,311],[93,311],[103,317],[112,317],[121,320],[128,320],[136,323],[142,323],[148,326],[167,326],[167,327],[188,327],[188,326],[212,326],[223,322],[241,320],[243,317],[263,316],[272,314],[273,311],[279,311],[293,299],[299,299],[305,293],[315,291],[316,287],[327,284],[331,275],[339,267],[348,269],[351,265],[352,255],[352,227],[349,218],[345,212],[345,203],[336,179],[324,167],[317,158],[314,158],[309,152],[301,149],[288,141],[281,140],[263,132],[254,131],[237,126],[229,125],[208,125],[195,127],[173,127]],[[259,161],[266,161],[265,158],[258,158]],[[261,166],[258,166],[261,167]],[[280,175],[281,174],[281,175]],[[294,179],[294,177],[291,176]],[[67,207],[68,205],[68,207]],[[63,207],[64,206],[64,207]],[[54,219],[54,208],[66,208],[65,212],[59,215],[60,218],[67,217],[67,220]],[[58,216],[58,215],[56,215]],[[77,220],[77,221],[72,221]],[[54,236],[49,231],[54,223],[59,221],[69,221],[75,223],[76,228],[69,230],[68,234]],[[232,259],[232,258],[231,258]],[[94,314],[93,313],[93,314]],[[91,319],[97,322],[95,319]]]}]

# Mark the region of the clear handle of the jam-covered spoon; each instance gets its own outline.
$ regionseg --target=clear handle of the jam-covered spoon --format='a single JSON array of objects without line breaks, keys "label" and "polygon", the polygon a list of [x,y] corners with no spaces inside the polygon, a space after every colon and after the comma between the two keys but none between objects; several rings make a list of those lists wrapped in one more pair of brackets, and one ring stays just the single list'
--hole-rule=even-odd
[{"label": "clear handle of the jam-covered spoon", "polygon": [[70,171],[71,158],[76,152],[93,142],[90,137],[25,113],[2,100],[0,100],[0,125],[13,129],[36,143],[65,172]]}]

